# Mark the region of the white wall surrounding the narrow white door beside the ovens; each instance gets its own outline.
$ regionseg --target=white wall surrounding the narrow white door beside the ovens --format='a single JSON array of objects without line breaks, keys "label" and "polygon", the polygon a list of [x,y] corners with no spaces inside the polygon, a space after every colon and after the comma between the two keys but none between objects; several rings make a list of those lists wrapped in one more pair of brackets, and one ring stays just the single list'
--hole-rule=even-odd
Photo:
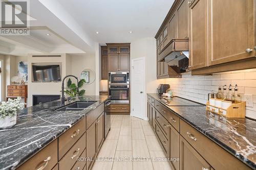
[{"label": "white wall surrounding the narrow white door beside the ovens", "polygon": [[[157,52],[156,52],[156,39],[148,37],[131,42],[131,60],[136,58],[145,58],[145,100],[146,93],[155,93],[159,84],[164,83],[164,80],[157,80]],[[132,63],[132,62],[131,62]],[[131,65],[132,66],[132,65]],[[130,69],[132,71],[132,67]],[[130,74],[132,75],[132,74]],[[131,77],[131,82],[133,78]],[[131,90],[133,87],[131,87]],[[133,96],[131,96],[133,98]],[[146,102],[145,102],[146,119]],[[132,108],[131,108],[132,110]]]}]

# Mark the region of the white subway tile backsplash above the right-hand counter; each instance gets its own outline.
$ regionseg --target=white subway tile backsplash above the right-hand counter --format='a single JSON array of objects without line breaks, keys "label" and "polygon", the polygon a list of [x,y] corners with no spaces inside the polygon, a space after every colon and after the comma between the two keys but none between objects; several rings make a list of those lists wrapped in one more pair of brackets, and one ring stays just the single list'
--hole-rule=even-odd
[{"label": "white subway tile backsplash above the right-hand counter", "polygon": [[208,93],[218,91],[219,86],[238,85],[238,92],[253,94],[254,107],[246,107],[246,116],[256,119],[256,69],[229,71],[213,74],[213,76],[191,76],[190,72],[181,79],[166,79],[174,95],[205,104]]}]

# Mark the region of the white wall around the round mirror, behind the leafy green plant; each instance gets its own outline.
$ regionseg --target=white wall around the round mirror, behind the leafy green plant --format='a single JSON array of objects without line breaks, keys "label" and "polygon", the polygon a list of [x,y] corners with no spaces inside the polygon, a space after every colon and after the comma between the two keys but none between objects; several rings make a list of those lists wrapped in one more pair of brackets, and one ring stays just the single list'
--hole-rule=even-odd
[{"label": "white wall around the round mirror, behind the leafy green plant", "polygon": [[[71,68],[72,68],[72,75],[75,75],[80,79],[80,74],[84,69],[91,69],[95,71],[95,55],[91,54],[76,54],[70,55],[71,57]],[[97,75],[97,74],[96,74]],[[72,79],[74,81],[74,79]],[[86,90],[85,95],[95,95],[96,91],[96,81],[92,84],[84,84],[82,88]]]}]

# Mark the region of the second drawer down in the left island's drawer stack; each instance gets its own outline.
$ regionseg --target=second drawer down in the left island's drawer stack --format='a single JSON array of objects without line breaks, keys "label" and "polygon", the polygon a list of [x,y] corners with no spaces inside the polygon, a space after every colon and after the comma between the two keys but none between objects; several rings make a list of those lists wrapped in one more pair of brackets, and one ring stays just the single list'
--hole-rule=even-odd
[{"label": "second drawer down in the left island's drawer stack", "polygon": [[73,145],[65,156],[59,161],[59,169],[68,170],[75,164],[77,158],[86,148],[86,133]]}]

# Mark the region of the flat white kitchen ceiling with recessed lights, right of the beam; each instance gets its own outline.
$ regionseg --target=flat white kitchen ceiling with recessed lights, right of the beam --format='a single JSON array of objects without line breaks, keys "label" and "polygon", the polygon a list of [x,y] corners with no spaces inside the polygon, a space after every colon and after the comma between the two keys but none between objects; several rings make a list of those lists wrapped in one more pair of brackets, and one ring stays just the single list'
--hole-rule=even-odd
[{"label": "flat white kitchen ceiling with recessed lights, right of the beam", "polygon": [[99,43],[155,37],[174,3],[174,0],[57,1]]}]

